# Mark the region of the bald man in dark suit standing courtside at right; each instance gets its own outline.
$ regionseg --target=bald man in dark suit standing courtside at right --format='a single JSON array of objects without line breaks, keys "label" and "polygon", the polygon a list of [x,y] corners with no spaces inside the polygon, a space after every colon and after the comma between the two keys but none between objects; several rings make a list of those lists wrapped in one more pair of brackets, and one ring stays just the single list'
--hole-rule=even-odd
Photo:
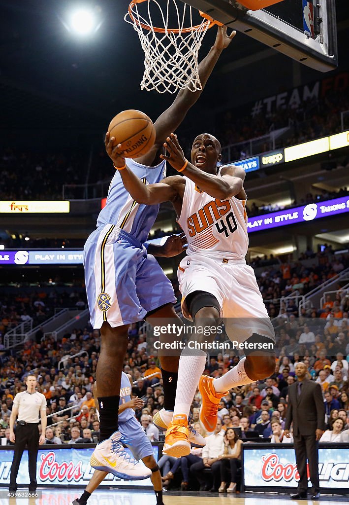
[{"label": "bald man in dark suit standing courtside at right", "polygon": [[312,499],[320,497],[318,441],[325,429],[325,408],[321,387],[307,378],[307,366],[300,362],[295,368],[297,382],[288,386],[288,407],[284,435],[289,436],[293,423],[296,463],[300,480],[293,499],[307,499],[308,476],[313,484]]}]

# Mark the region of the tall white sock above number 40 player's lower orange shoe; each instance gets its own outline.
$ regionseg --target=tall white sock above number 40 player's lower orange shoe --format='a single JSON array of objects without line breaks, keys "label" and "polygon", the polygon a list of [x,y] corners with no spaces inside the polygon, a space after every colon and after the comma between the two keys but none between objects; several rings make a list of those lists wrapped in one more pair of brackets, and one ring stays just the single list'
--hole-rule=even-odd
[{"label": "tall white sock above number 40 player's lower orange shoe", "polygon": [[206,352],[201,349],[188,349],[188,347],[183,349],[178,366],[178,382],[173,417],[177,414],[189,416],[199,379],[205,369],[206,359]]}]

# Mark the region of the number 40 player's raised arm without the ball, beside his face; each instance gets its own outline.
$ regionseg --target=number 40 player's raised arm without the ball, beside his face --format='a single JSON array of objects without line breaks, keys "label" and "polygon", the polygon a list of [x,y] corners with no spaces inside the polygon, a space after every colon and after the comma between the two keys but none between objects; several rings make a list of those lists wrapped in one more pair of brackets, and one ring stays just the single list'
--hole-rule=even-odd
[{"label": "number 40 player's raised arm without the ball, beside his face", "polygon": [[[202,191],[205,191],[213,198],[224,199],[229,196],[236,196],[243,190],[245,170],[241,167],[225,167],[221,172],[221,177],[217,177],[187,162],[177,135],[174,135],[174,133],[167,137],[164,146],[168,154],[167,156],[160,155],[160,158],[167,160],[174,169],[183,171],[186,177],[194,181]],[[185,169],[183,170],[184,166]]]}]

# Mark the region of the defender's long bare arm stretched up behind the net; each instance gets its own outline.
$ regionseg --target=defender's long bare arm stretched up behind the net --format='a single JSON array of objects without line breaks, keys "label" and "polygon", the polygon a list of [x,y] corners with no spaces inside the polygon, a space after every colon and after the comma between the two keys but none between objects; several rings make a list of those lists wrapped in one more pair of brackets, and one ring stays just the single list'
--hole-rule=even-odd
[{"label": "defender's long bare arm stretched up behind the net", "polygon": [[[190,91],[188,88],[181,89],[174,99],[173,104],[164,111],[155,121],[156,140],[149,153],[138,160],[143,165],[151,166],[159,163],[158,155],[163,151],[163,142],[171,131],[176,131],[184,120],[189,109],[196,103],[202,93],[203,88],[214,69],[223,49],[225,49],[235,37],[236,31],[230,35],[226,33],[225,26],[218,26],[216,40],[208,55],[199,65],[199,77],[202,89]],[[159,152],[160,151],[160,152]]]}]

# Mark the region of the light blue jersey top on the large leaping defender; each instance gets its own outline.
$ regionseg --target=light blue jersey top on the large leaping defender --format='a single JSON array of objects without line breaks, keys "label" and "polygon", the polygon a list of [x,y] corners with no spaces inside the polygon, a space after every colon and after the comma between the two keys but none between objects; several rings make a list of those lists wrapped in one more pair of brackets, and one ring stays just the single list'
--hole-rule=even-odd
[{"label": "light blue jersey top on the large leaping defender", "polygon": [[[165,160],[155,167],[146,167],[128,159],[127,166],[145,185],[160,182],[166,175]],[[147,240],[158,212],[159,205],[137,204],[126,191],[119,170],[115,170],[109,185],[106,206],[99,213],[97,226],[114,224],[143,243]]]}]

